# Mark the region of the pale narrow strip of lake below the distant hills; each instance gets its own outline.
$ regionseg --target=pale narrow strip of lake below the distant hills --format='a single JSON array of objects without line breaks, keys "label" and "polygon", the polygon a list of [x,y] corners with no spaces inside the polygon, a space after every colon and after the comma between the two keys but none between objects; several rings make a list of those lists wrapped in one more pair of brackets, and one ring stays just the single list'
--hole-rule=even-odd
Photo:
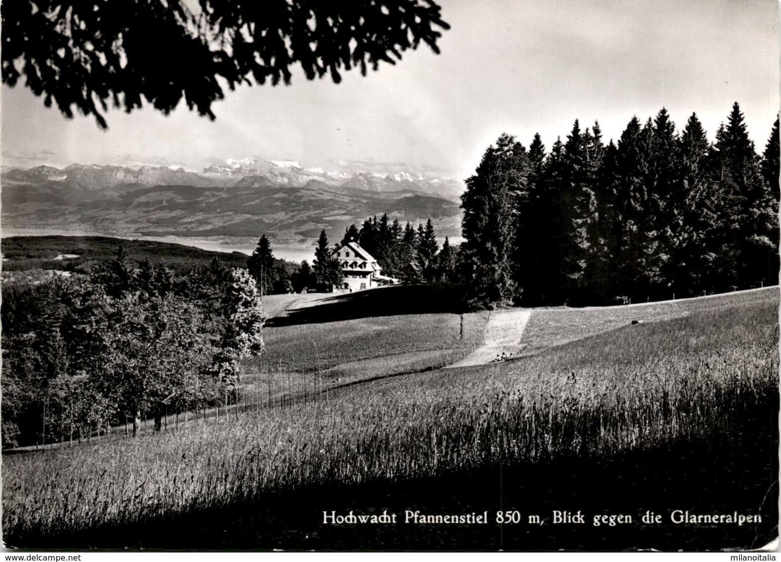
[{"label": "pale narrow strip of lake below the distant hills", "polygon": [[[185,246],[194,246],[212,252],[241,252],[248,256],[255,249],[255,243],[236,243],[223,242],[219,239],[191,238],[189,236],[141,236],[132,234],[111,234],[98,231],[62,231],[49,228],[17,228],[2,227],[3,238],[6,236],[109,236],[111,238],[122,238],[123,240],[148,240],[151,242],[171,242]],[[315,259],[315,246],[290,246],[290,245],[271,245],[274,257],[289,262],[301,262],[307,260],[312,263]]]}]

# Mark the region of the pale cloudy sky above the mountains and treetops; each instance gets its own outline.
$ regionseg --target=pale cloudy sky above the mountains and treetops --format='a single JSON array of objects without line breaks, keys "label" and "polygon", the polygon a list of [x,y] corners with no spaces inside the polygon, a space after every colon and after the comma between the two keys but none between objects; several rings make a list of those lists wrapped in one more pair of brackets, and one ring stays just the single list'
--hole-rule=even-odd
[{"label": "pale cloudy sky above the mountains and treetops", "polygon": [[330,170],[411,170],[463,180],[507,132],[547,148],[574,120],[604,140],[665,107],[696,112],[713,140],[733,102],[764,150],[779,111],[777,0],[440,0],[441,54],[421,45],[366,77],[226,90],[210,121],[182,104],[66,120],[23,85],[2,86],[5,166],[149,164],[200,171],[224,159]]}]

